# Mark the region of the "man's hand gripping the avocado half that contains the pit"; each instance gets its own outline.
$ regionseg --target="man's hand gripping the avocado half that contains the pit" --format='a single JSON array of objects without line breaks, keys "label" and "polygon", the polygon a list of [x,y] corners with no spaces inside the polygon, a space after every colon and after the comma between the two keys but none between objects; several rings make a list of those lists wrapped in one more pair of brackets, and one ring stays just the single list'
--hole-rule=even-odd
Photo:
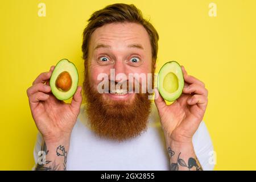
[{"label": "man's hand gripping the avocado half that contains the pit", "polygon": [[81,86],[76,90],[71,104],[59,101],[51,93],[49,78],[55,67],[41,73],[27,89],[32,117],[46,143],[69,140],[82,102]]}]

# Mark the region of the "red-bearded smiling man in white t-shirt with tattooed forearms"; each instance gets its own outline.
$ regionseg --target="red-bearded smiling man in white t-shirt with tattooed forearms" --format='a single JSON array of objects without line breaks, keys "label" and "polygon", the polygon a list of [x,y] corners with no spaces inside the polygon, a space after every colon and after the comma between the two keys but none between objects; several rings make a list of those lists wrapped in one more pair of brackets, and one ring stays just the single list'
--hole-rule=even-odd
[{"label": "red-bearded smiling man in white t-shirt with tattooed forearms", "polygon": [[[71,104],[52,95],[49,78],[54,67],[41,73],[27,90],[40,131],[35,169],[213,169],[212,142],[202,122],[208,95],[203,82],[183,67],[183,94],[171,105],[157,89],[155,104],[148,99],[149,92],[130,92],[134,81],[141,90],[145,85],[142,78],[125,76],[155,72],[158,33],[134,5],[107,6],[88,21],[82,43],[86,104],[81,106],[81,86]],[[122,77],[111,77],[113,70]],[[105,82],[114,84],[104,93],[98,92],[102,73],[110,76]],[[127,81],[126,89],[117,89],[121,80]]]}]

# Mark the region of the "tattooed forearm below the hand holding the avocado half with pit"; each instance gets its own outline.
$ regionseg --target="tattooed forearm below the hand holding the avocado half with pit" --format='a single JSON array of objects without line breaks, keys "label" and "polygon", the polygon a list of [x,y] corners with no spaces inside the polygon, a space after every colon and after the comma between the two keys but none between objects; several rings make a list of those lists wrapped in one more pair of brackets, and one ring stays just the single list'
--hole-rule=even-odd
[{"label": "tattooed forearm below the hand holding the avocado half with pit", "polygon": [[66,170],[69,139],[60,142],[43,142],[36,171]]}]

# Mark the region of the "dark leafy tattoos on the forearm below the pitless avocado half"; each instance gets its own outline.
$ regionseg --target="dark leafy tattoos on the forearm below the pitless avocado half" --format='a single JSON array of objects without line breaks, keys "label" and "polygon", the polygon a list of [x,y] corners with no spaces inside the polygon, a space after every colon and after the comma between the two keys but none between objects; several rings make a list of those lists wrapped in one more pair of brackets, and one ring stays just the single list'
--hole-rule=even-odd
[{"label": "dark leafy tattoos on the forearm below the pitless avocado half", "polygon": [[[168,147],[168,154],[170,156],[170,159],[172,158],[172,156],[175,155],[175,152],[171,150],[171,147]],[[196,159],[189,158],[188,159],[188,164],[186,164],[183,159],[180,159],[180,154],[181,154],[181,152],[178,155],[177,162],[176,163],[171,163],[171,171],[179,171],[179,166],[187,167],[189,171],[193,167],[196,167],[196,171],[203,171],[200,164],[197,164],[197,162],[198,162],[197,158]]]}]

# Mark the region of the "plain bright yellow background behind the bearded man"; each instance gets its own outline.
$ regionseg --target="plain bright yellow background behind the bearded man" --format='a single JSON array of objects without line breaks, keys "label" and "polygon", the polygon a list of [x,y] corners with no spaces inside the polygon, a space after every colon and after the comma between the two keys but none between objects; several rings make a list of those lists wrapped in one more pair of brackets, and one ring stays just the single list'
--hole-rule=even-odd
[{"label": "plain bright yellow background behind the bearded man", "polygon": [[[46,17],[38,4],[46,3]],[[160,35],[158,69],[176,60],[205,82],[216,170],[256,169],[256,1],[0,1],[0,169],[30,170],[37,129],[26,90],[62,58],[79,69],[82,31],[93,11],[134,3]],[[208,15],[209,3],[217,17]]]}]

